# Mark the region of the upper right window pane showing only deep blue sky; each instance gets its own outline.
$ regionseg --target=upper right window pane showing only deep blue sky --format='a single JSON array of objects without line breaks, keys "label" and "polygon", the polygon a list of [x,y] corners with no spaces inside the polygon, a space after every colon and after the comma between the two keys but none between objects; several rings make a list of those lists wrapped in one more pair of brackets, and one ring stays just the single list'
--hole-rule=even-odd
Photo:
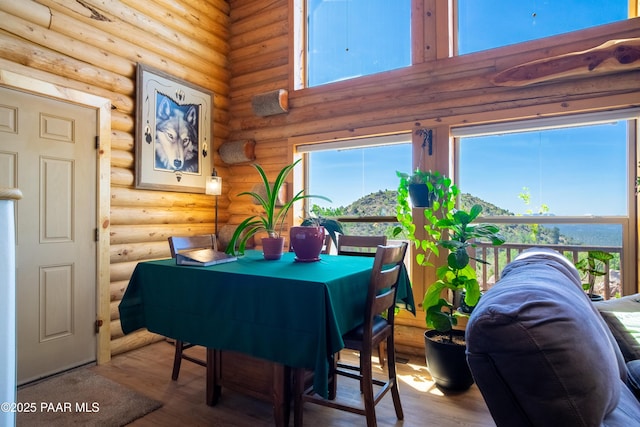
[{"label": "upper right window pane showing only deep blue sky", "polygon": [[458,54],[622,21],[628,8],[629,0],[458,0]]}]

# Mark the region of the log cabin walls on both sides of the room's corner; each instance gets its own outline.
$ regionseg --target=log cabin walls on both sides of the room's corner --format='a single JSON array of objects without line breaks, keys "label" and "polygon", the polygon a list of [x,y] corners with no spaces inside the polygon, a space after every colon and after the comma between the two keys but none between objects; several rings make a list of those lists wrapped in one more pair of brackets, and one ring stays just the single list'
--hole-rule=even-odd
[{"label": "log cabin walls on both sides of the room's corner", "polygon": [[[537,85],[491,82],[498,72],[528,61],[640,37],[638,19],[448,58],[448,41],[436,37],[447,25],[446,13],[436,8],[444,3],[415,1],[412,32],[420,42],[414,43],[413,66],[294,90],[294,0],[0,0],[0,70],[112,104],[110,346],[99,348],[99,361],[161,338],[146,332],[122,336],[117,306],[136,263],[169,256],[169,235],[214,228],[211,197],[134,189],[137,62],[214,92],[214,148],[255,140],[256,162],[270,176],[291,162],[301,142],[431,127],[435,158],[444,164],[451,125],[640,103],[637,67]],[[289,112],[254,115],[251,97],[275,89],[289,90]],[[255,212],[235,195],[250,189],[258,176],[249,164],[214,159],[224,182],[219,222],[233,226]],[[421,300],[425,274],[430,273],[414,277],[416,300]],[[422,348],[422,316],[400,316],[398,323],[399,347]]]}]

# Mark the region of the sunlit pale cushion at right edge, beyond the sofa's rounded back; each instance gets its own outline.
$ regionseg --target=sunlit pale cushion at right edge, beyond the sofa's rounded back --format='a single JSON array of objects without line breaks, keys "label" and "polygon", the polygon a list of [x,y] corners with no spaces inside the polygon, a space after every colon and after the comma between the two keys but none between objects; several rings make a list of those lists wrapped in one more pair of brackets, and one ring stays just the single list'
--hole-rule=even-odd
[{"label": "sunlit pale cushion at right edge, beyond the sofa's rounded back", "polygon": [[640,359],[640,294],[594,303],[626,361]]}]

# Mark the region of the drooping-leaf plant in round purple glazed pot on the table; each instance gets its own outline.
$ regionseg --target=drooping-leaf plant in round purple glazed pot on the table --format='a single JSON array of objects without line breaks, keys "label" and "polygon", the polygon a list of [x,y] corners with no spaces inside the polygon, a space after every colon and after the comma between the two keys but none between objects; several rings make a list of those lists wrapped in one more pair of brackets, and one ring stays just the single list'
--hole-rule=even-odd
[{"label": "drooping-leaf plant in round purple glazed pot on the table", "polygon": [[305,218],[299,226],[291,227],[289,241],[296,253],[297,261],[318,261],[329,235],[334,245],[338,245],[337,233],[344,234],[342,224],[336,219],[323,216]]}]

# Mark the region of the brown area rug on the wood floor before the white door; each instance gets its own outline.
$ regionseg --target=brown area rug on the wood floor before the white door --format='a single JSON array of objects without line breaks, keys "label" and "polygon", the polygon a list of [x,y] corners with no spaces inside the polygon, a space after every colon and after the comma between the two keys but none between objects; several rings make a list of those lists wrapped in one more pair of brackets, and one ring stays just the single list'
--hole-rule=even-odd
[{"label": "brown area rug on the wood floor before the white door", "polygon": [[18,389],[18,427],[124,426],[162,403],[86,368]]}]

